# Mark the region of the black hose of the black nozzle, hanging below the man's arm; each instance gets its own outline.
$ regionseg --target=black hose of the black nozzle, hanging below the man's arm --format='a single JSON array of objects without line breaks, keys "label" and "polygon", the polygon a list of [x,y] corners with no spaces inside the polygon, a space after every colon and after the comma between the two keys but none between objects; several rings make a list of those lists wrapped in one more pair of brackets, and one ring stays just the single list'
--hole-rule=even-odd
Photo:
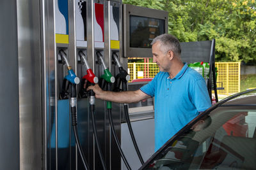
[{"label": "black hose of the black nozzle, hanging below the man's arm", "polygon": [[130,121],[130,118],[129,118],[127,105],[124,105],[124,115],[125,115],[125,120],[126,120],[127,125],[128,125],[129,132],[130,132],[130,134],[131,134],[132,143],[133,143],[133,145],[134,145],[134,148],[135,148],[135,150],[136,150],[136,152],[137,152],[137,155],[138,155],[138,157],[139,157],[139,159],[140,159],[141,164],[144,164],[144,160],[143,160],[143,158],[142,158],[142,156],[141,156],[140,150],[139,150],[138,145],[137,145],[137,143],[136,143],[136,139],[135,139],[135,137],[134,137],[134,133],[133,133],[133,131],[132,131],[132,125],[131,125],[131,121]]}]

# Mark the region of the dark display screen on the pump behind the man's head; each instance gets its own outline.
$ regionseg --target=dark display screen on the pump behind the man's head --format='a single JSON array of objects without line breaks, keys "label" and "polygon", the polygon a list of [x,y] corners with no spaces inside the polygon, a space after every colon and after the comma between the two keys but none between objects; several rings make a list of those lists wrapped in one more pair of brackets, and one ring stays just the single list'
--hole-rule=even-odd
[{"label": "dark display screen on the pump behind the man's head", "polygon": [[130,15],[130,47],[151,48],[156,36],[164,34],[164,20]]}]

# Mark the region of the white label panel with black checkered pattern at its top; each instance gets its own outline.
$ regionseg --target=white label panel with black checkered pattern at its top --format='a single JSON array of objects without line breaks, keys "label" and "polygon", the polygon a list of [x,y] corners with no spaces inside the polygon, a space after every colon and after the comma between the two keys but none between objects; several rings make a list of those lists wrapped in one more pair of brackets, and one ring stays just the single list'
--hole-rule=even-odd
[{"label": "white label panel with black checkered pattern at its top", "polygon": [[87,46],[86,1],[76,0],[76,45]]}]

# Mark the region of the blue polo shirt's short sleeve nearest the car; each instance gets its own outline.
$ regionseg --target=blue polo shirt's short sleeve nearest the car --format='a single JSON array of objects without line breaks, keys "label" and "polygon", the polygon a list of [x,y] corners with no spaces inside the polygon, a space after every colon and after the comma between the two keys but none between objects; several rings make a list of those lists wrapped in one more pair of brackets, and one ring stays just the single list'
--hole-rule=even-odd
[{"label": "blue polo shirt's short sleeve nearest the car", "polygon": [[205,111],[211,107],[211,99],[203,78],[195,81],[191,94],[198,112]]}]

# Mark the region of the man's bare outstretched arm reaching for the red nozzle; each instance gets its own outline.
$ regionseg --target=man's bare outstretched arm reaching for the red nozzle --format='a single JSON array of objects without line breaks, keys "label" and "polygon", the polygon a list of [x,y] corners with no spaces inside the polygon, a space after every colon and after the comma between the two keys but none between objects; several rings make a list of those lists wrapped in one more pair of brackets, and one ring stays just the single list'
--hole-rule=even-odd
[{"label": "man's bare outstretched arm reaching for the red nozzle", "polygon": [[116,103],[136,103],[142,101],[143,99],[148,99],[148,96],[141,90],[136,91],[126,91],[126,92],[110,92],[100,89],[98,84],[90,86],[87,90],[93,90],[95,92],[95,97],[98,99],[113,101]]}]

